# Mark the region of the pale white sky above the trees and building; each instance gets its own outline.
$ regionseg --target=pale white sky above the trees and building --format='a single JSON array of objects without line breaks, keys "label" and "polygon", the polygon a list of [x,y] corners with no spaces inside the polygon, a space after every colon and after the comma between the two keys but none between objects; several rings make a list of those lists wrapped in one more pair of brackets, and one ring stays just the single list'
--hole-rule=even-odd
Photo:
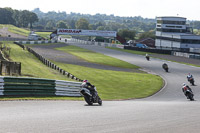
[{"label": "pale white sky above the trees and building", "polygon": [[156,18],[179,16],[200,21],[200,0],[0,0],[0,8],[40,8],[42,12],[107,14],[120,17]]}]

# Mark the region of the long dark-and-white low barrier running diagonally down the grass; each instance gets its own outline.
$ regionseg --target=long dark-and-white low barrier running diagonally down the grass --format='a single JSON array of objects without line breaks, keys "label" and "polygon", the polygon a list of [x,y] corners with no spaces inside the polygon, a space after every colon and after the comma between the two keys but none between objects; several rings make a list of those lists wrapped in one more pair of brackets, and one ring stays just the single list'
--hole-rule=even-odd
[{"label": "long dark-and-white low barrier running diagonally down the grass", "polygon": [[15,42],[15,44],[19,45],[21,48],[23,49],[27,49],[30,53],[32,53],[33,55],[35,55],[40,61],[42,61],[43,64],[45,64],[46,66],[59,71],[62,75],[66,75],[68,78],[77,80],[77,81],[83,81],[82,79],[77,78],[76,76],[74,76],[73,74],[61,69],[59,66],[55,65],[54,63],[50,62],[49,60],[47,60],[46,58],[44,58],[43,56],[41,56],[40,54],[38,54],[37,52],[35,52],[33,49],[31,49],[30,47],[27,47],[25,45],[20,44],[19,42]]}]

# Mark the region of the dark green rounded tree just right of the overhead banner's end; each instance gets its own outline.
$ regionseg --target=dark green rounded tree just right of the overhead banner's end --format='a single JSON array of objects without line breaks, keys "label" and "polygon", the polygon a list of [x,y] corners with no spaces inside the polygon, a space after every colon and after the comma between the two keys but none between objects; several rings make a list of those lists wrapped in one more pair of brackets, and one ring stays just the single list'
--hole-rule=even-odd
[{"label": "dark green rounded tree just right of the overhead banner's end", "polygon": [[134,40],[136,32],[133,30],[122,29],[118,32],[118,34],[125,38],[126,40]]}]

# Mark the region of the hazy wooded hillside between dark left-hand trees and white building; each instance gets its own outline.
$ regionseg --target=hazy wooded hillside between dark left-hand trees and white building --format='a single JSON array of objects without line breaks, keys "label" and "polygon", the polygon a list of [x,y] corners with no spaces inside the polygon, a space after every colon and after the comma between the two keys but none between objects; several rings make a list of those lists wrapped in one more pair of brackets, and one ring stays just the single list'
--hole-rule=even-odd
[{"label": "hazy wooded hillside between dark left-hand trees and white building", "polygon": [[[135,36],[155,38],[155,19],[137,17],[119,17],[106,14],[80,14],[50,11],[43,13],[39,8],[33,10],[38,15],[39,21],[34,24],[36,29],[56,30],[66,29],[89,29],[117,31],[120,36],[130,40]],[[138,34],[139,33],[139,34]]]}]

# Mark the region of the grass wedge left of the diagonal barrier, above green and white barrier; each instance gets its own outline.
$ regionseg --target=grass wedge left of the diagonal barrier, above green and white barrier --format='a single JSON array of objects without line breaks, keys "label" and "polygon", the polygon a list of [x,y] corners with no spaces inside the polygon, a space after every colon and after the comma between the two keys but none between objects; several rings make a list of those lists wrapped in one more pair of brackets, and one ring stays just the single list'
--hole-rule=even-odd
[{"label": "grass wedge left of the diagonal barrier, above green and white barrier", "polygon": [[13,43],[5,43],[6,46],[11,47],[10,58],[15,62],[22,64],[22,76],[48,78],[58,80],[71,80],[66,76],[61,75],[56,70],[46,67],[34,55]]}]

